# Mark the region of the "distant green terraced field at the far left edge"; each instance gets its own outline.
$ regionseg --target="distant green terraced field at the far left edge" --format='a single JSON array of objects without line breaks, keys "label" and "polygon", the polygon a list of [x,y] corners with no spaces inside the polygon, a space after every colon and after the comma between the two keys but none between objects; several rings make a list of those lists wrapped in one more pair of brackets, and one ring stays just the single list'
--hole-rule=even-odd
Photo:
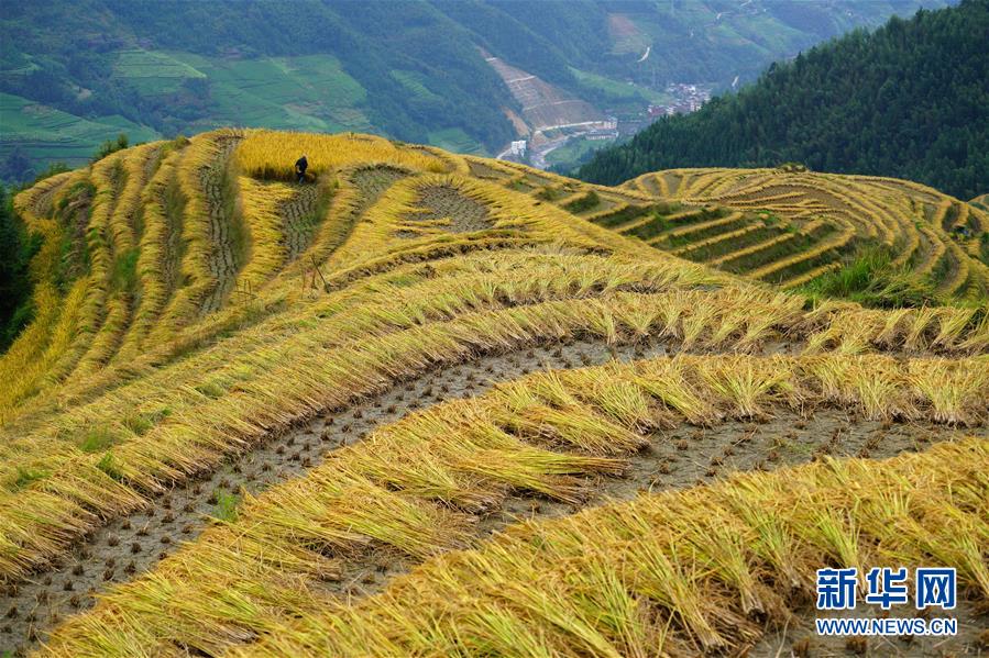
[{"label": "distant green terraced field at the far left edge", "polygon": [[131,143],[157,140],[158,134],[123,116],[83,119],[19,96],[0,92],[0,159],[20,147],[37,168],[55,161],[78,167],[100,143],[127,133]]}]

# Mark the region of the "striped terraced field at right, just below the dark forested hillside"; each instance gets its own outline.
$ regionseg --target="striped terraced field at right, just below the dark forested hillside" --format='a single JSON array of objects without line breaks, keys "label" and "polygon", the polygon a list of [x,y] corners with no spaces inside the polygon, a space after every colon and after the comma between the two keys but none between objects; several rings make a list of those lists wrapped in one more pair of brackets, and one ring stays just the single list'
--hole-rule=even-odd
[{"label": "striped terraced field at right, just below the dark forested hillside", "polygon": [[[730,248],[712,254],[702,244],[696,257],[681,254],[784,288],[840,268],[864,244],[889,247],[895,265],[931,278],[946,297],[979,300],[989,285],[980,237],[989,231],[986,209],[910,181],[777,169],[675,169],[646,174],[624,187],[688,207],[741,212],[737,221],[744,228],[707,222],[700,230],[706,233],[670,237],[693,243],[692,235],[710,241],[707,234],[716,232]],[[672,246],[662,237],[650,244]]]}]

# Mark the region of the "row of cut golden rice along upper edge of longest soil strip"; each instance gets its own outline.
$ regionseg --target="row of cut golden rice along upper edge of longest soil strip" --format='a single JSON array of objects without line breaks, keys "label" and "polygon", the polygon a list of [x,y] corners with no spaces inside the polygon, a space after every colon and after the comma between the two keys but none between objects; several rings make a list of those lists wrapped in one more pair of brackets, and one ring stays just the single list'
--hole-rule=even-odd
[{"label": "row of cut golden rice along upper edge of longest soil strip", "polygon": [[[218,373],[196,389],[179,388],[183,394],[190,395],[190,402],[198,400],[195,413],[176,413],[173,419],[162,419],[156,421],[157,424],[152,422],[151,427],[141,435],[134,435],[133,430],[129,428],[127,417],[116,421],[123,423],[119,431],[121,438],[125,439],[123,443],[107,453],[70,455],[52,478],[0,497],[0,500],[8,500],[11,505],[25,511],[31,510],[33,494],[55,486],[61,478],[69,477],[73,481],[95,478],[100,481],[108,471],[138,486],[139,490],[153,491],[163,481],[185,478],[216,464],[224,453],[243,449],[274,428],[325,406],[342,404],[354,392],[380,390],[396,377],[460,358],[460,355],[472,350],[504,349],[538,341],[540,336],[561,337],[581,332],[601,336],[609,343],[623,339],[623,334],[640,338],[655,334],[668,336],[683,348],[734,344],[737,349],[757,345],[767,333],[776,331],[773,327],[800,316],[799,309],[792,304],[790,308],[774,308],[772,304],[779,303],[777,301],[769,304],[763,301],[759,310],[757,297],[741,300],[736,295],[724,295],[717,299],[710,292],[689,294],[678,291],[669,299],[679,301],[657,304],[651,295],[617,293],[600,302],[548,302],[505,311],[468,313],[439,325],[414,325],[407,331],[364,341],[350,350],[326,352],[320,338],[322,332],[314,332],[311,338],[298,334],[284,349],[260,354],[245,361],[234,360],[227,368],[228,375],[221,377]],[[964,316],[955,317],[952,309],[936,311],[934,314],[924,313],[923,317],[913,321],[921,327],[921,334],[926,333],[927,326],[941,322],[944,335],[934,337],[931,334],[931,338],[924,338],[932,343],[955,339],[974,313],[969,310]],[[827,317],[826,310],[817,314],[817,320],[824,317]],[[886,341],[895,342],[905,337],[916,344],[921,339],[914,326],[909,324],[909,314],[901,316],[908,323],[902,328],[887,327],[881,313],[873,320],[879,321],[878,327],[870,327],[868,317],[856,317],[849,322],[850,330],[846,332],[865,330],[865,333],[857,334],[859,341],[868,339],[870,328],[881,328],[881,337]],[[945,324],[949,321],[952,326]],[[980,331],[983,341],[987,339],[985,328]],[[825,330],[812,334],[812,344],[821,348],[842,335],[842,332]],[[847,353],[850,341],[844,337],[838,348]],[[155,404],[147,406],[146,413],[152,416],[144,417],[153,417],[157,413],[155,409]],[[92,411],[99,413],[96,409]],[[107,426],[108,421],[102,416],[100,422]],[[85,424],[81,426],[85,427]],[[62,442],[56,437],[48,442],[40,437],[22,442],[29,450],[28,455],[39,455],[35,450],[46,451],[48,443],[57,449],[57,444]],[[13,459],[7,461],[9,469],[17,464]],[[88,512],[83,513],[81,499],[75,498],[75,490],[63,490],[70,497],[62,508],[66,515],[81,515],[88,518],[87,524],[91,524],[92,518]],[[121,498],[124,493],[121,491],[120,495],[106,495],[97,500],[87,495],[86,505],[96,505],[102,514],[117,514],[132,509],[134,499]],[[76,500],[80,502],[73,502]],[[66,532],[64,528],[67,525],[72,526],[69,518],[32,514],[31,532],[17,531],[11,535],[29,537],[29,543],[23,548],[11,544],[7,554],[0,555],[0,568],[8,573],[17,573],[32,562],[45,559],[50,555],[46,547],[59,543],[57,537]],[[51,538],[53,532],[55,539]],[[0,536],[3,534],[0,533]]]}]

